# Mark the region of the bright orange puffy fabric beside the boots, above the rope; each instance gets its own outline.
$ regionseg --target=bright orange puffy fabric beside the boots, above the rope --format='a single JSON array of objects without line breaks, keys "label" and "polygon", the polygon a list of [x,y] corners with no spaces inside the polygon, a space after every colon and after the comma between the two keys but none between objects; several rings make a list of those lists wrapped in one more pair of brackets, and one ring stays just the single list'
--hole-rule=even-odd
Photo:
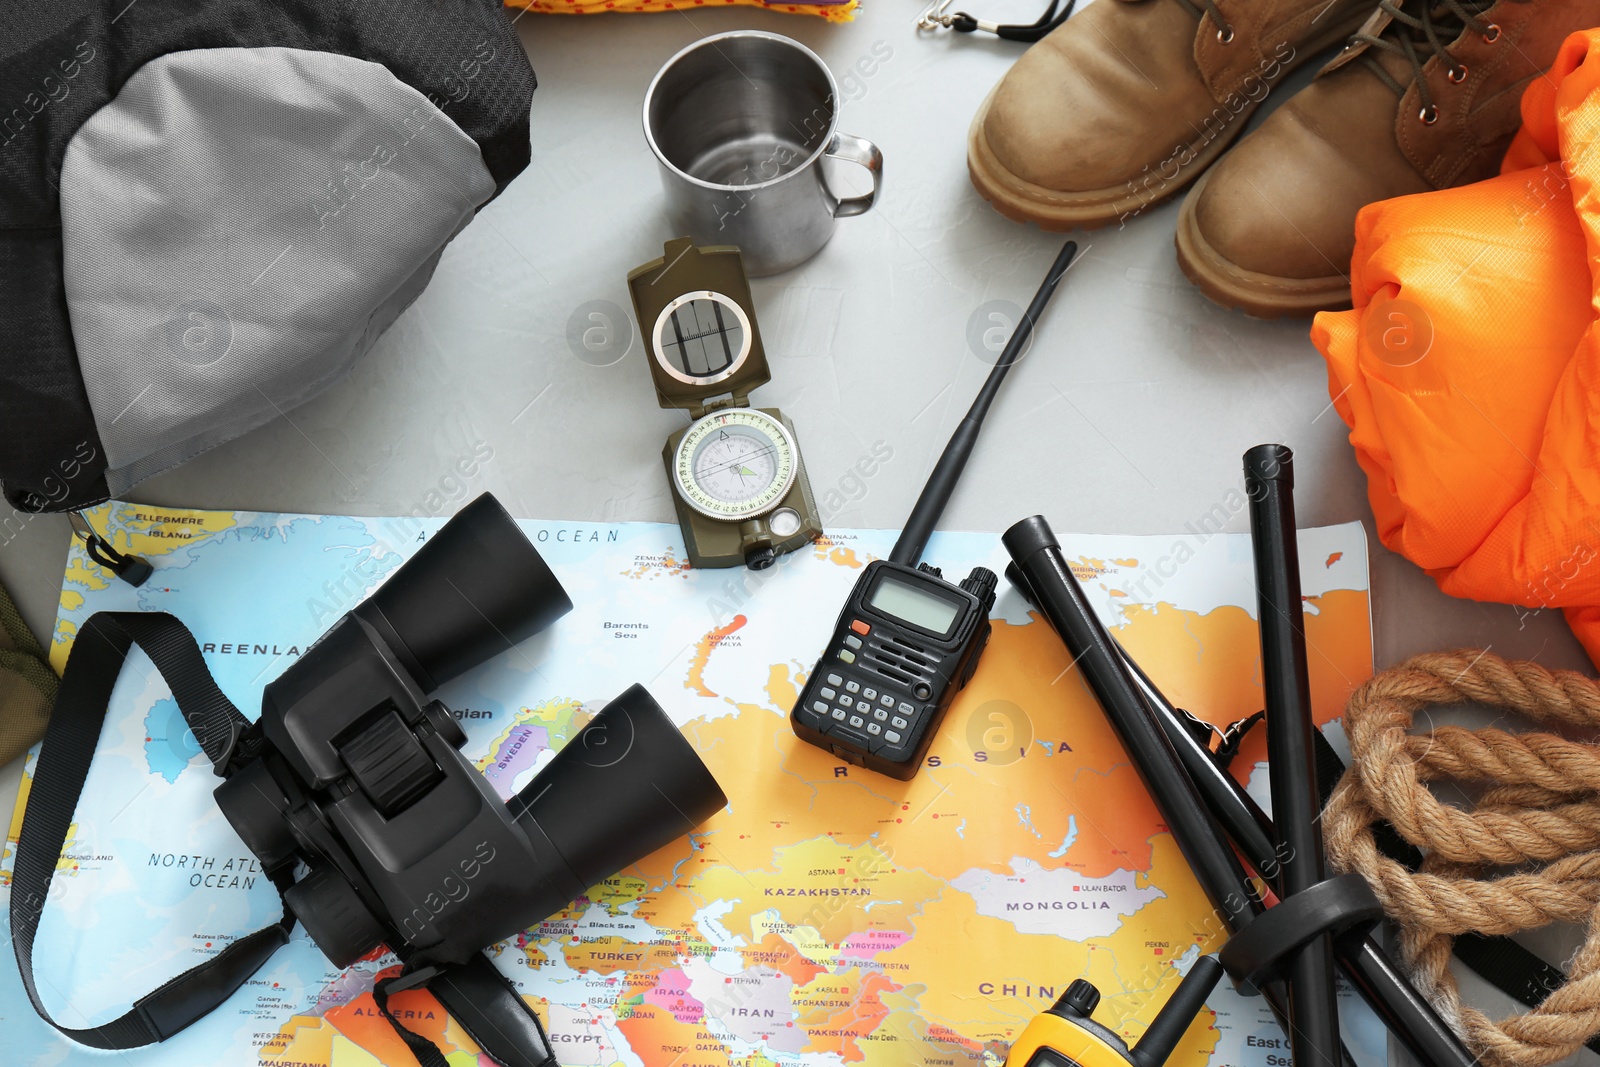
[{"label": "bright orange puffy fabric beside the boots, above the rope", "polygon": [[1368,205],[1312,341],[1386,545],[1454,597],[1562,608],[1600,664],[1600,30],[1498,178]]}]

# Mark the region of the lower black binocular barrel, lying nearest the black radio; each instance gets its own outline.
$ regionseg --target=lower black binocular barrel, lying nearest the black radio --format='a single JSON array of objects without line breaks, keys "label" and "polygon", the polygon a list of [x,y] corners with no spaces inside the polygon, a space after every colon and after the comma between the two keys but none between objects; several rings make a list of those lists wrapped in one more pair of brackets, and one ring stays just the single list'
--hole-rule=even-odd
[{"label": "lower black binocular barrel, lying nearest the black radio", "polygon": [[725,808],[717,779],[642,685],[605,705],[510,814],[542,833],[584,886],[610,878]]}]

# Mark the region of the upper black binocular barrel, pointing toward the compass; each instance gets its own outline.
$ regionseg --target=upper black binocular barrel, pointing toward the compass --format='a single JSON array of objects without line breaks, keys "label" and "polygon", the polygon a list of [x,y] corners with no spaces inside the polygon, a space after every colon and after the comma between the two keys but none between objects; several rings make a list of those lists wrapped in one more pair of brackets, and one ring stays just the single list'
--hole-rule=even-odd
[{"label": "upper black binocular barrel, pointing toward the compass", "polygon": [[573,609],[566,590],[491,494],[467,504],[355,614],[432,693]]}]

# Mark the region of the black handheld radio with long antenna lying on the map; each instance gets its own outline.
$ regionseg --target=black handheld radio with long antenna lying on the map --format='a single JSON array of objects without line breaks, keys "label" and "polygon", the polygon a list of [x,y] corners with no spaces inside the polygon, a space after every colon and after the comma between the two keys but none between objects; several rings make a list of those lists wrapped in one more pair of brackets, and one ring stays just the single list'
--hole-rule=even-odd
[{"label": "black handheld radio with long antenna lying on the map", "polygon": [[789,713],[802,741],[846,763],[907,781],[922,766],[950,701],[978,669],[998,579],[989,568],[974,566],[958,585],[947,582],[939,568],[920,563],[922,550],[955,491],[1000,382],[1021,358],[1077,251],[1077,242],[1067,242],[1050,266],[928,475],[890,558],[869,563],[850,590],[834,637]]}]

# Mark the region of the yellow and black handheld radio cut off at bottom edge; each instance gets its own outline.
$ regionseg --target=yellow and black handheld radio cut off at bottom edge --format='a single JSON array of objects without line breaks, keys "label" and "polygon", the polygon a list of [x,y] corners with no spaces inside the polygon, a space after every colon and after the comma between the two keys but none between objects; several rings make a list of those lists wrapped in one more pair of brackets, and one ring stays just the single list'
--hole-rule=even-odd
[{"label": "yellow and black handheld radio cut off at bottom edge", "polygon": [[1222,965],[1216,957],[1195,960],[1133,1048],[1091,1019],[1099,990],[1080,977],[1053,1008],[1034,1016],[1011,1043],[1005,1067],[1162,1067],[1219,977]]}]

